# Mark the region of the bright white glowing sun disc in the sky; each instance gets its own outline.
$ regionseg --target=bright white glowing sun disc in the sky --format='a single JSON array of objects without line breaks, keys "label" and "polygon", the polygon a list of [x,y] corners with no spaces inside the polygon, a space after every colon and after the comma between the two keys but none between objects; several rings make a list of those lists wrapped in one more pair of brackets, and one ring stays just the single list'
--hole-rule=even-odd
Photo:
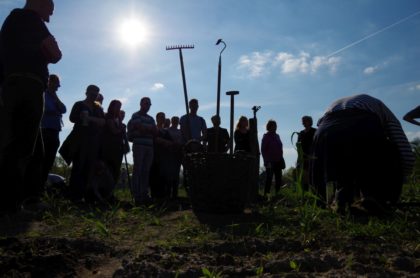
[{"label": "bright white glowing sun disc in the sky", "polygon": [[137,19],[126,19],[120,25],[119,34],[126,45],[134,48],[145,42],[147,28]]}]

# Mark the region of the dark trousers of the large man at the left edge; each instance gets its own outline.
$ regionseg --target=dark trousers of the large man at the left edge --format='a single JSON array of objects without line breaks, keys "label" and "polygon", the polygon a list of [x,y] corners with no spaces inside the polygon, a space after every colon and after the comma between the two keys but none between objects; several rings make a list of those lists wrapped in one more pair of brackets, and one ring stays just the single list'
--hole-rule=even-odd
[{"label": "dark trousers of the large man at the left edge", "polygon": [[23,77],[9,78],[4,83],[3,106],[0,107],[2,206],[16,207],[27,195],[25,175],[38,137],[44,107],[43,89],[38,81]]}]

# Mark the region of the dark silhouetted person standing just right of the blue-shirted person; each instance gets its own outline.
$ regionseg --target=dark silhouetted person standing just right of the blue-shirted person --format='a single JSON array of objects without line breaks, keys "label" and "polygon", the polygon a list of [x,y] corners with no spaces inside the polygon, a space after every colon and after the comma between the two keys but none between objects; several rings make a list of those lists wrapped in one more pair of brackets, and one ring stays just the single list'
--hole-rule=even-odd
[{"label": "dark silhouetted person standing just right of the blue-shirted person", "polygon": [[73,201],[86,199],[89,174],[100,151],[99,135],[105,126],[105,115],[102,107],[96,103],[98,94],[99,87],[89,85],[86,98],[73,105],[70,112],[73,130],[60,148],[60,154],[66,162],[73,164],[69,182],[69,197]]}]

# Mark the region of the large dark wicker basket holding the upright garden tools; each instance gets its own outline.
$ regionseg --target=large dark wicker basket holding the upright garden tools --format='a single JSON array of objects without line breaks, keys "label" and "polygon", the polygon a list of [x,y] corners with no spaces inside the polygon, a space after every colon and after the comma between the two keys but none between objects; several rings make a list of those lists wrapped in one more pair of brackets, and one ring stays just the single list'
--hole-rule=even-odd
[{"label": "large dark wicker basket holding the upright garden tools", "polygon": [[184,167],[195,211],[242,213],[252,199],[252,155],[192,153],[186,155]]}]

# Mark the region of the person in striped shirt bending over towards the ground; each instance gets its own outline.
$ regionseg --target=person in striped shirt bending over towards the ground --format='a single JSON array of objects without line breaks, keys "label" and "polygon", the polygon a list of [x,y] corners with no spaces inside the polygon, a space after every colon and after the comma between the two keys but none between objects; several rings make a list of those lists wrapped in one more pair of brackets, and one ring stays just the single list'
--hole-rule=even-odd
[{"label": "person in striped shirt bending over towards the ground", "polygon": [[400,122],[382,101],[366,94],[345,97],[318,121],[312,185],[326,200],[331,182],[339,212],[357,195],[365,208],[382,209],[398,201],[414,160]]}]

